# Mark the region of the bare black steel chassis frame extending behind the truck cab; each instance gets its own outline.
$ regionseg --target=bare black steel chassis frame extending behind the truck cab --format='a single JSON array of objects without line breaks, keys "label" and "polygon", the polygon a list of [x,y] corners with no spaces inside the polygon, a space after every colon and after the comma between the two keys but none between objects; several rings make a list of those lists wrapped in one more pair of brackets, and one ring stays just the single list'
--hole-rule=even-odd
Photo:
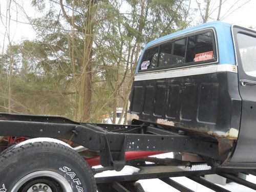
[{"label": "bare black steel chassis frame extending behind the truck cab", "polygon": [[0,114],[1,136],[66,139],[100,152],[104,167],[121,170],[125,152],[189,152],[205,156],[220,164],[227,154],[220,155],[218,142],[207,141],[154,125],[114,125],[77,123],[62,117]]}]

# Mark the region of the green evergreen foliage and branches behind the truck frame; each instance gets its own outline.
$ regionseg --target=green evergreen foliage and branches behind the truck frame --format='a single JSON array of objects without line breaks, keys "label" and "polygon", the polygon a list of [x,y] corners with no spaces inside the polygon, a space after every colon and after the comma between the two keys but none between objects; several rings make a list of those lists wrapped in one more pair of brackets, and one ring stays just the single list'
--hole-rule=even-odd
[{"label": "green evergreen foliage and branches behind the truck frame", "polygon": [[[68,17],[60,11],[59,3],[31,2],[44,14],[30,19],[38,37],[12,46],[14,112],[62,115],[77,120],[82,69],[90,62],[90,120],[99,122],[113,108],[125,108],[136,59],[143,46],[187,26],[185,1],[94,0],[89,9],[90,1],[63,1]],[[91,23],[87,23],[89,18]],[[90,40],[92,57],[85,60]],[[0,55],[1,112],[6,112],[8,50]]]}]

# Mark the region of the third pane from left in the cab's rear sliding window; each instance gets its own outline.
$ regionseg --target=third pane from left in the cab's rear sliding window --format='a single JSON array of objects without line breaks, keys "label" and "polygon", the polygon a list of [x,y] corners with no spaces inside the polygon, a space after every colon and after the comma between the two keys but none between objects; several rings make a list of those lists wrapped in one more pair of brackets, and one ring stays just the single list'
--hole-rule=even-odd
[{"label": "third pane from left in the cab's rear sliding window", "polygon": [[172,66],[185,61],[186,40],[187,38],[179,39],[174,42],[174,53],[172,59]]}]

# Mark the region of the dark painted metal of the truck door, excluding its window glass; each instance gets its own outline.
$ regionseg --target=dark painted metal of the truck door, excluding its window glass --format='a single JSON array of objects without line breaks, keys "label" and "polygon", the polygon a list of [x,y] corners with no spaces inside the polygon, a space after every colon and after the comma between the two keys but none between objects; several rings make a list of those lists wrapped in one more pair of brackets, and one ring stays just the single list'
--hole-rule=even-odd
[{"label": "dark painted metal of the truck door, excluding its window glass", "polygon": [[[256,84],[248,83],[244,86],[240,82],[241,79],[256,81],[256,77],[247,75],[242,67],[242,60],[239,53],[239,45],[237,41],[237,33],[243,33],[252,37],[256,37],[255,31],[245,30],[240,27],[233,29],[233,35],[236,44],[238,76],[239,76],[239,92],[242,98],[242,115],[241,126],[238,137],[236,150],[234,151],[230,162],[239,164],[239,162],[247,162],[249,166],[256,162]],[[255,65],[256,63],[254,63]],[[232,165],[232,163],[230,163]]]}]

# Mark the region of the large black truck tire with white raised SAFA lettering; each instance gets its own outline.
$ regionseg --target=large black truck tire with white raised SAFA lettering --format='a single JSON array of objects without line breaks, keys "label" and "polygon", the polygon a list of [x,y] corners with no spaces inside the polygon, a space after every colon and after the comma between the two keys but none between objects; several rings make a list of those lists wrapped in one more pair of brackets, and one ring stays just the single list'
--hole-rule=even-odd
[{"label": "large black truck tire with white raised SAFA lettering", "polygon": [[95,192],[96,182],[91,167],[68,146],[54,142],[11,146],[0,154],[0,192],[28,191]]}]

